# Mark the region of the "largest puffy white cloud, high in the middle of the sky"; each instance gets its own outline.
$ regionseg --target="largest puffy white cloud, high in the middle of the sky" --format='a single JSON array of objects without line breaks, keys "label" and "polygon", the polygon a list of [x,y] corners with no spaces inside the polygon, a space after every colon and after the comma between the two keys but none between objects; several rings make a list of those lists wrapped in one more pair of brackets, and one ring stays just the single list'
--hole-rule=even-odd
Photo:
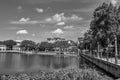
[{"label": "largest puffy white cloud, high in the middle of the sky", "polygon": [[52,17],[47,18],[46,22],[51,22],[51,23],[67,22],[67,21],[79,21],[79,20],[82,20],[82,19],[83,19],[82,17],[79,17],[75,14],[73,14],[70,17],[65,17],[64,13],[60,13],[60,14],[57,13],[57,14],[53,15]]}]

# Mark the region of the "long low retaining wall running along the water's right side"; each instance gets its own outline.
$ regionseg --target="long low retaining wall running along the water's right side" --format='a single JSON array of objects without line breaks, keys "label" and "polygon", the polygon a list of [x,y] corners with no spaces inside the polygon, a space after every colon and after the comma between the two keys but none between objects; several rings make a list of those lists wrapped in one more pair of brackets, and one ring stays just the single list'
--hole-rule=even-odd
[{"label": "long low retaining wall running along the water's right side", "polygon": [[81,58],[93,63],[97,67],[105,70],[115,78],[120,78],[120,64],[115,64],[113,60],[105,60],[102,58],[92,57],[87,54],[80,54]]}]

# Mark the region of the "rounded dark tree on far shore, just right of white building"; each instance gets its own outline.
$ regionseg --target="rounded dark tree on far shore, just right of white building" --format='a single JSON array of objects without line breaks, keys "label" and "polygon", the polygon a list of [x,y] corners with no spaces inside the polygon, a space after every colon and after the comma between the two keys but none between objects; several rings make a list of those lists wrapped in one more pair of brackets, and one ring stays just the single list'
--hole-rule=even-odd
[{"label": "rounded dark tree on far shore, just right of white building", "polygon": [[36,50],[36,43],[31,40],[23,40],[20,44],[20,48],[24,51]]}]

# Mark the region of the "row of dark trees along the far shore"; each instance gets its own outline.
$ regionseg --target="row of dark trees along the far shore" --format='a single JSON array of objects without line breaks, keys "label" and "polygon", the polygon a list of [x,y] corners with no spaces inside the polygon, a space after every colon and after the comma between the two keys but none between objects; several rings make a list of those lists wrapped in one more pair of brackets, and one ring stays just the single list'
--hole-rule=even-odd
[{"label": "row of dark trees along the far shore", "polygon": [[14,40],[6,40],[0,41],[0,45],[5,45],[7,50],[13,50],[13,47],[17,45],[17,47],[23,51],[54,51],[56,48],[65,49],[70,46],[76,46],[76,43],[72,40],[70,40],[70,43],[67,40],[56,41],[54,43],[49,43],[47,41],[36,43],[32,40],[23,40],[18,43]]}]

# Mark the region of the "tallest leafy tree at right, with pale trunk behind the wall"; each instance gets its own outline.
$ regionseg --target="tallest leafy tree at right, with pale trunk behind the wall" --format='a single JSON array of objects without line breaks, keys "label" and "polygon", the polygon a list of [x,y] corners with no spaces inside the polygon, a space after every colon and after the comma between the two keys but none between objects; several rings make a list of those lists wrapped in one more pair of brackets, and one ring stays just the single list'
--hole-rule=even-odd
[{"label": "tallest leafy tree at right, with pale trunk behind the wall", "polygon": [[[114,40],[115,45],[115,63],[118,56],[118,34],[120,26],[120,7],[114,6],[112,3],[103,3],[95,9],[90,29],[93,38],[103,47],[109,48],[109,44]],[[104,44],[102,43],[103,41]]]}]

